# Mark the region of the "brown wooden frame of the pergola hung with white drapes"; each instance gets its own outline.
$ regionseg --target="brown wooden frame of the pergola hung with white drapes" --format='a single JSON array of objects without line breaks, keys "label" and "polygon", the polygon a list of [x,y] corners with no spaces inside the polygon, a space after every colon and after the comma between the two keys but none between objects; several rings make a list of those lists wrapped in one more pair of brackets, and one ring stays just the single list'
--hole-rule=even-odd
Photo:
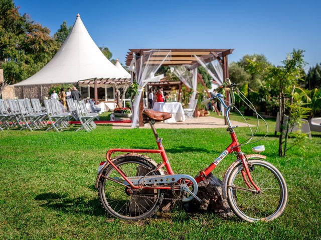
[{"label": "brown wooden frame of the pergola hung with white drapes", "polygon": [[[213,61],[214,59],[218,59],[223,68],[223,77],[229,77],[228,71],[228,55],[233,52],[234,49],[228,48],[141,48],[141,49],[129,49],[126,55],[126,65],[129,66],[133,57],[139,57],[143,54],[144,51],[149,51],[152,49],[157,50],[164,50],[162,51],[155,51],[151,58],[148,61],[145,61],[144,64],[159,64],[162,63],[164,56],[167,54],[169,50],[171,50],[171,57],[170,60],[165,60],[163,65],[190,65],[190,69],[194,69],[200,65],[197,61],[196,56],[204,59],[205,62]],[[198,76],[200,77],[200,76]],[[209,93],[208,93],[209,94]],[[229,95],[226,94],[227,100]],[[141,96],[140,103],[139,103],[139,126],[143,126],[141,112],[143,110],[143,96]]]}]

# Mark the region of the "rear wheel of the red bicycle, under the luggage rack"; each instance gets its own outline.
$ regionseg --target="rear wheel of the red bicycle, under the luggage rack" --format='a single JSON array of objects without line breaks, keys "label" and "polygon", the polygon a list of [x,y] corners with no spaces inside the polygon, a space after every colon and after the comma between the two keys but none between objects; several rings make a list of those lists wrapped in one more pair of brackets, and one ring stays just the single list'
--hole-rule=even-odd
[{"label": "rear wheel of the red bicycle, under the luggage rack", "polygon": [[[125,156],[113,163],[126,176],[146,175],[154,165],[142,157]],[[154,171],[148,175],[160,175]],[[98,184],[98,195],[102,206],[111,215],[125,220],[138,220],[152,216],[163,200],[163,193],[159,189],[138,189],[131,191],[130,186],[124,186],[124,179],[111,165],[104,172]]]}]

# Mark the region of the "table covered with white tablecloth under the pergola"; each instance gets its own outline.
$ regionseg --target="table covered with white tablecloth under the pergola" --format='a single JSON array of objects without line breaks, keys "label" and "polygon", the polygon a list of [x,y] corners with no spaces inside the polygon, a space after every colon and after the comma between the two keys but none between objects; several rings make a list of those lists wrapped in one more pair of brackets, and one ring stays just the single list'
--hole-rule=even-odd
[{"label": "table covered with white tablecloth under the pergola", "polygon": [[185,121],[184,109],[181,102],[155,102],[152,109],[172,113],[172,117],[165,122]]}]

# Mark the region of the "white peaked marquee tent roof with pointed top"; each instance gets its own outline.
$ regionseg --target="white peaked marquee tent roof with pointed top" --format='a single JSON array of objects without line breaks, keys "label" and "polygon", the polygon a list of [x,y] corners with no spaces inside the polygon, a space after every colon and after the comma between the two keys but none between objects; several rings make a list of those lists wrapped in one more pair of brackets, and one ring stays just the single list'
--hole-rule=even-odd
[{"label": "white peaked marquee tent roof with pointed top", "polygon": [[73,83],[93,77],[128,78],[128,73],[105,57],[77,14],[71,32],[56,55],[36,74],[14,85]]}]

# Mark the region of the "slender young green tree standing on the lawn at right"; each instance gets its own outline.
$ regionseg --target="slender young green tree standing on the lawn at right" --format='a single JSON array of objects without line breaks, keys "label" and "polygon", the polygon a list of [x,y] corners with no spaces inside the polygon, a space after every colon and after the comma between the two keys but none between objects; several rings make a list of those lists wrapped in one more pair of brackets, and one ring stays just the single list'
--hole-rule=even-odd
[{"label": "slender young green tree standing on the lawn at right", "polygon": [[[278,107],[280,113],[280,135],[279,135],[279,155],[285,156],[288,148],[288,136],[289,132],[297,124],[300,124],[300,118],[307,116],[309,108],[305,107],[308,97],[305,91],[299,87],[299,81],[305,75],[303,66],[304,50],[293,49],[288,54],[285,60],[282,61],[283,65],[280,66],[268,66],[266,68],[260,68],[254,60],[249,60],[249,69],[253,73],[260,74],[264,77],[269,84],[278,91]],[[285,120],[285,116],[288,119]],[[294,144],[297,144],[300,140],[306,137],[306,134],[294,133],[292,134],[296,139]]]}]

